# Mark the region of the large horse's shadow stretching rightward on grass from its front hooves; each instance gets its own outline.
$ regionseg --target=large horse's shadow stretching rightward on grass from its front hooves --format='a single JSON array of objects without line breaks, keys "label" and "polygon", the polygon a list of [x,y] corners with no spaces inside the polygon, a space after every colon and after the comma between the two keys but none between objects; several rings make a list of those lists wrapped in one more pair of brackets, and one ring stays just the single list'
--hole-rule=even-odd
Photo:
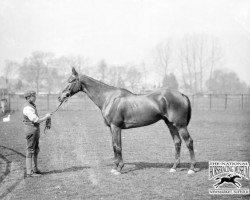
[{"label": "large horse's shadow stretching rightward on grass from its front hooves", "polygon": [[[163,168],[163,169],[170,169],[173,166],[173,163],[148,163],[148,162],[132,162],[132,163],[125,163],[125,165],[129,165],[129,167],[123,170],[123,173],[129,173],[137,170],[143,170],[148,168]],[[188,170],[190,167],[190,163],[180,163],[177,171]],[[208,162],[197,162],[195,165],[195,171],[199,172],[202,170],[208,169]]]}]

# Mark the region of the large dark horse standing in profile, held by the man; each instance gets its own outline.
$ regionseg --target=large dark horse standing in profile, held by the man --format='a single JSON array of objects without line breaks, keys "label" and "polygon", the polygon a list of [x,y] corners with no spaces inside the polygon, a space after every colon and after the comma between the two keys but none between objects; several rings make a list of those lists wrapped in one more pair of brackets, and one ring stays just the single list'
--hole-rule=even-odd
[{"label": "large dark horse standing in profile, held by the man", "polygon": [[63,102],[79,91],[85,92],[99,107],[105,124],[110,128],[115,163],[111,170],[113,174],[120,174],[124,166],[121,130],[147,126],[159,120],[164,120],[168,126],[175,145],[175,162],[170,172],[176,172],[176,167],[180,163],[182,137],[191,157],[188,174],[194,173],[193,140],[187,130],[191,118],[191,105],[187,96],[169,89],[158,89],[149,94],[137,95],[126,89],[79,75],[75,68],[72,68],[68,84],[58,99]]}]

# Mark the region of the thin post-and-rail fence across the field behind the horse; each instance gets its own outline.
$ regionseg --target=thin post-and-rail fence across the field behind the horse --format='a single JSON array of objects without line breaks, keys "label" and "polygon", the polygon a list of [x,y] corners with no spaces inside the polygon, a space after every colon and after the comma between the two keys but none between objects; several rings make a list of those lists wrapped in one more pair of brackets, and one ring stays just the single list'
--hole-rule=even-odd
[{"label": "thin post-and-rail fence across the field behind the horse", "polygon": [[[58,105],[58,95],[37,95],[39,110],[53,110]],[[188,95],[194,110],[250,110],[250,94],[203,94]],[[23,95],[6,96],[7,110],[21,110],[25,99]],[[96,110],[94,103],[84,94],[71,97],[61,110]]]}]

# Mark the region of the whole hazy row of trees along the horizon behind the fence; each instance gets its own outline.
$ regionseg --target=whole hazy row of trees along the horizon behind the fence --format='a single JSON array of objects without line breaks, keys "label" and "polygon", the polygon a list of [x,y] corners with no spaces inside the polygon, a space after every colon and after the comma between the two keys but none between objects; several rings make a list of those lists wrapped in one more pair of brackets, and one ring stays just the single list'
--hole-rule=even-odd
[{"label": "whole hazy row of trees along the horizon behind the fence", "polygon": [[[218,69],[223,63],[219,39],[206,34],[186,35],[180,41],[160,42],[148,63],[109,65],[83,55],[56,57],[53,53],[36,51],[21,63],[6,60],[4,79],[12,92],[35,88],[44,93],[57,93],[74,66],[80,73],[107,84],[133,92],[168,87],[186,93],[249,93],[250,89],[238,75]],[[158,73],[155,83],[148,84],[151,71]]]}]

